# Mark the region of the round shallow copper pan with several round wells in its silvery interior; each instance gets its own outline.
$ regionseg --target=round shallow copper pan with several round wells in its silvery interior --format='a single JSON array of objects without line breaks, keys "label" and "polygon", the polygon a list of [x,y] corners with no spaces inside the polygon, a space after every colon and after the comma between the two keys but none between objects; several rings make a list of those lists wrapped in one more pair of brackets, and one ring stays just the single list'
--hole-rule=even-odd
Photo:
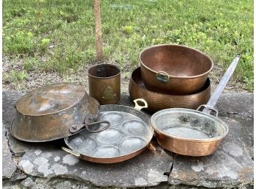
[{"label": "round shallow copper pan with several round wells in its silvery interior", "polygon": [[101,106],[100,120],[110,121],[110,128],[97,134],[83,130],[65,138],[72,151],[64,150],[94,163],[118,163],[140,154],[154,134],[149,117],[132,107]]}]

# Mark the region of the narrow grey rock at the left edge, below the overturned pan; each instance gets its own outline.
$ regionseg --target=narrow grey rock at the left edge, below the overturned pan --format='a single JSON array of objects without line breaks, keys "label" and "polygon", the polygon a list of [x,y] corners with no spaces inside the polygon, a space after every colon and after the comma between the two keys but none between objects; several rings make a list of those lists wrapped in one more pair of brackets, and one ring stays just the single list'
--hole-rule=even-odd
[{"label": "narrow grey rock at the left edge, below the overturned pan", "polygon": [[8,140],[4,135],[2,136],[2,142],[2,178],[6,179],[13,175],[16,170],[16,165],[13,163],[12,153],[10,152],[10,148],[8,146]]}]

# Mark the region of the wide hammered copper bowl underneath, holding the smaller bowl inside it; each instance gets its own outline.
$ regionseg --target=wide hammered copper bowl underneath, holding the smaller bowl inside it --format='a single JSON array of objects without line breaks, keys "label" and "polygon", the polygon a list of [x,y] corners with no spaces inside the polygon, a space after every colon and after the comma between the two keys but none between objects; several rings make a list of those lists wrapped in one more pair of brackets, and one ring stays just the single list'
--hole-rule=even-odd
[{"label": "wide hammered copper bowl underneath, holding the smaller bowl inside it", "polygon": [[199,105],[207,103],[210,99],[210,79],[207,79],[199,93],[182,96],[167,95],[147,90],[141,79],[141,68],[137,68],[132,72],[129,80],[129,96],[132,99],[145,99],[149,105],[147,110],[153,113],[171,107],[196,110]]}]

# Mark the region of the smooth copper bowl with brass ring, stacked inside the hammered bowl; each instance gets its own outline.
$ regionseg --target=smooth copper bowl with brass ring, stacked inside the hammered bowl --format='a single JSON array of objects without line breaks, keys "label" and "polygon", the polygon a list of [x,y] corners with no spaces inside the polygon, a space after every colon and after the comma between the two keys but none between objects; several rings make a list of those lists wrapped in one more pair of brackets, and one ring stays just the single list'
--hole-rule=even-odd
[{"label": "smooth copper bowl with brass ring, stacked inside the hammered bowl", "polygon": [[198,93],[205,85],[213,61],[187,46],[157,45],[141,51],[141,77],[146,88],[158,93]]}]

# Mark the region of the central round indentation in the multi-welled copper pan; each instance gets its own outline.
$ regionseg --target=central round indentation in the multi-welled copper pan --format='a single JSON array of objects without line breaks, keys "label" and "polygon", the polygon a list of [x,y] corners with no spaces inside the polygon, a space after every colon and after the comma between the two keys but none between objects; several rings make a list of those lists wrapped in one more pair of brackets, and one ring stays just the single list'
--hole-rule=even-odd
[{"label": "central round indentation in the multi-welled copper pan", "polygon": [[118,143],[122,138],[122,134],[118,129],[106,129],[103,132],[99,132],[97,140],[102,143]]}]

